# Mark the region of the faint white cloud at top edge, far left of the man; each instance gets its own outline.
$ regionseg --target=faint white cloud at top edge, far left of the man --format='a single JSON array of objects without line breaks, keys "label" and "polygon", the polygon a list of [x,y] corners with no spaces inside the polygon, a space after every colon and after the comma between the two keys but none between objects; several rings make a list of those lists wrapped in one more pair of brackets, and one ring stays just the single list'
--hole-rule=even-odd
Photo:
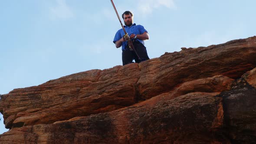
[{"label": "faint white cloud at top edge, far left of the man", "polygon": [[53,19],[68,19],[74,17],[71,8],[66,4],[66,0],[56,0],[56,7],[51,7],[51,17]]}]

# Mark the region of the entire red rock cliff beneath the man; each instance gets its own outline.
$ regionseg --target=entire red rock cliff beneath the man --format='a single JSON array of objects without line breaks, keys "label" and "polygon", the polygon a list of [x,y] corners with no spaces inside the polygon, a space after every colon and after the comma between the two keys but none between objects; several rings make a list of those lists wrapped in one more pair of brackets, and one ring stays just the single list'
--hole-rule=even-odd
[{"label": "entire red rock cliff beneath the man", "polygon": [[0,144],[256,143],[256,36],[90,70],[0,99]]}]

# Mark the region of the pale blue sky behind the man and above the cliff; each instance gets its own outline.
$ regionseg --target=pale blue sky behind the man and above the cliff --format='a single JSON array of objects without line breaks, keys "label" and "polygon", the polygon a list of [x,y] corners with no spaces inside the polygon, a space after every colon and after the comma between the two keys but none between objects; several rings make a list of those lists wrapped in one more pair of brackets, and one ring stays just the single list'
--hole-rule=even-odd
[{"label": "pale blue sky behind the man and above the cliff", "polygon": [[[119,15],[131,10],[148,30],[150,58],[256,35],[255,0],[114,3]],[[110,0],[1,0],[0,19],[0,94],[122,64],[112,43],[121,25]]]}]

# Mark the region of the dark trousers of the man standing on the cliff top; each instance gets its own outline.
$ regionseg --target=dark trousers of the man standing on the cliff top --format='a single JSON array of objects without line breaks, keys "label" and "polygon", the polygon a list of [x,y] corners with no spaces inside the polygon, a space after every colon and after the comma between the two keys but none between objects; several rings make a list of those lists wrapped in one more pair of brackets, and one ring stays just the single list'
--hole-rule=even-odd
[{"label": "dark trousers of the man standing on the cliff top", "polygon": [[133,42],[133,46],[141,59],[138,59],[138,56],[136,55],[135,51],[131,51],[129,48],[127,48],[122,52],[123,65],[132,63],[133,60],[135,60],[136,63],[140,63],[149,59],[147,49],[142,43],[140,43],[139,41],[135,41]]}]

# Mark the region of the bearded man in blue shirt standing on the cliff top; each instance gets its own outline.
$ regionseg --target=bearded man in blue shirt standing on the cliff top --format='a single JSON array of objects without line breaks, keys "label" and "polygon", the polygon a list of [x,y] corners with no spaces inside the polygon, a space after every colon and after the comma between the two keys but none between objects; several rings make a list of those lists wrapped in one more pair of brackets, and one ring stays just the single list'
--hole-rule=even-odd
[{"label": "bearded man in blue shirt standing on the cliff top", "polygon": [[[130,11],[125,11],[122,14],[122,18],[125,22],[125,31],[128,35],[125,35],[123,29],[119,29],[113,40],[115,43],[115,47],[119,48],[122,46],[122,61],[123,65],[131,63],[133,60],[135,62],[140,63],[145,60],[148,60],[148,53],[146,47],[144,46],[144,40],[149,39],[148,31],[144,29],[141,25],[136,25],[133,23],[133,14]],[[138,56],[141,59],[138,59],[135,51],[131,50],[128,46],[128,40],[131,39],[133,42],[133,46]]]}]

